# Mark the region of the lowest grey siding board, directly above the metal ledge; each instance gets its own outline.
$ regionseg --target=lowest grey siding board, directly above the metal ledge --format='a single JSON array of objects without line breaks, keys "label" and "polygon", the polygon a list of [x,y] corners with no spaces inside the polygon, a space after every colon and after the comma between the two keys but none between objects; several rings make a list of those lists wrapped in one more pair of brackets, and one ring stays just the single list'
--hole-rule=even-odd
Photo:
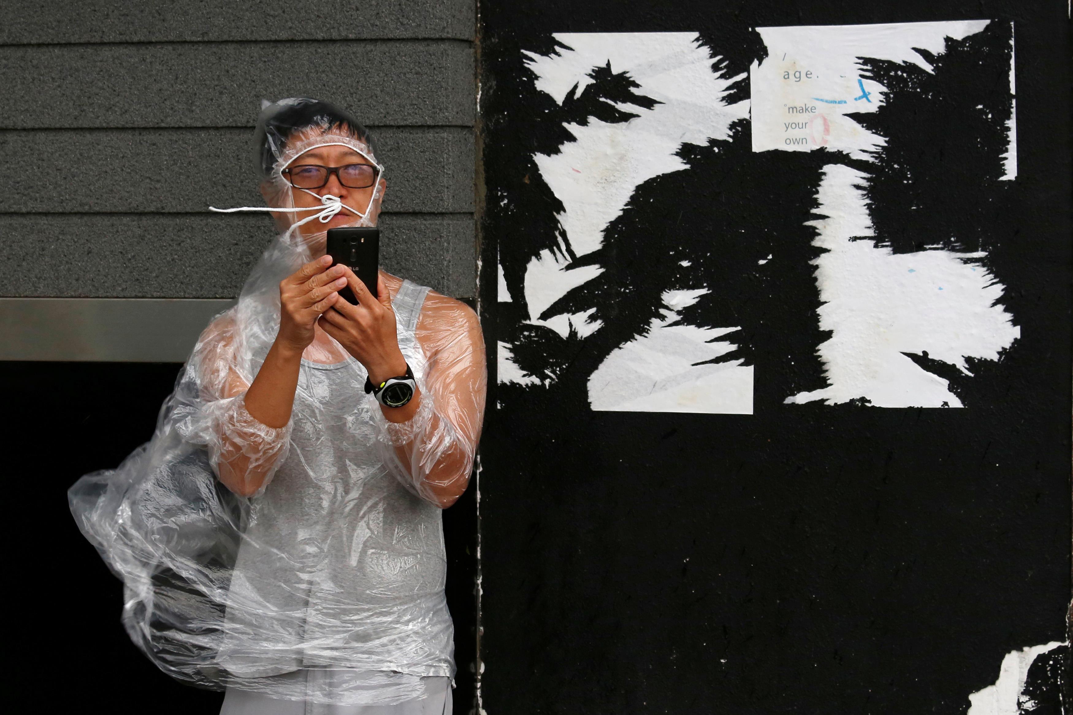
[{"label": "lowest grey siding board, directly above the metal ledge", "polygon": [[[385,214],[381,266],[455,297],[475,291],[465,214]],[[232,298],[276,235],[256,214],[0,215],[0,296]]]}]

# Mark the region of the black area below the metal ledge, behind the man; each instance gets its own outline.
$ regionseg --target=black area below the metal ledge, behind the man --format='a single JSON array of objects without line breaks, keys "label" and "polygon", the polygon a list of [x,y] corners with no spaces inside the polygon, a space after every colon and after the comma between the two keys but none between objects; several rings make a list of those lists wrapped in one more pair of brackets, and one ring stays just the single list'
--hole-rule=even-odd
[{"label": "black area below the metal ledge, behind the man", "polygon": [[[17,505],[2,531],[11,545],[9,601],[17,604],[8,626],[10,675],[34,712],[215,715],[223,702],[222,692],[173,681],[134,647],[119,623],[122,583],[67,508],[74,478],[118,464],[152,436],[180,367],[0,362],[8,493]],[[474,699],[475,491],[471,485],[443,512],[460,713]]]}]

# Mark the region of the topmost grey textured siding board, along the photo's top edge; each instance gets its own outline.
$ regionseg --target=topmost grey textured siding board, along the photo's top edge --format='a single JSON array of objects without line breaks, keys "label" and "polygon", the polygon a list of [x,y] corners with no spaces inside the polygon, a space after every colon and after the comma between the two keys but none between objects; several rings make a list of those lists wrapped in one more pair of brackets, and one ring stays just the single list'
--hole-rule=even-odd
[{"label": "topmost grey textured siding board, along the photo's top edge", "polygon": [[474,28],[472,0],[6,0],[0,44],[468,39]]}]

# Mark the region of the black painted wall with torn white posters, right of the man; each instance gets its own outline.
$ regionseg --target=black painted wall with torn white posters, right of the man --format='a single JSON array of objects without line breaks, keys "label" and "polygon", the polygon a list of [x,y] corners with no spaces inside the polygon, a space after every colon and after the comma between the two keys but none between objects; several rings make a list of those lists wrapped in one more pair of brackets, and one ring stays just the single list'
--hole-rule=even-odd
[{"label": "black painted wall with torn white posters, right of the man", "polygon": [[[1006,286],[1003,304],[1021,333],[1002,360],[973,363],[974,379],[942,374],[967,408],[783,404],[788,393],[814,389],[820,376],[819,296],[807,268],[817,251],[802,224],[814,218],[815,180],[829,160],[752,154],[747,126],[744,149],[738,137],[718,147],[718,160],[702,148],[687,152],[694,176],[702,172],[717,189],[690,194],[702,182],[659,177],[613,222],[604,236],[613,248],[598,256],[605,268],[599,289],[570,296],[574,310],[602,311],[607,330],[559,340],[524,325],[520,293],[497,302],[506,298],[497,295],[497,264],[506,284],[519,286],[528,260],[560,245],[554,212],[561,205],[540,179],[533,152],[555,151],[570,140],[561,122],[584,120],[599,106],[583,95],[560,107],[536,91],[523,50],[550,51],[553,32],[696,31],[741,72],[763,48],[753,27],[961,18],[997,19],[999,30],[1015,24],[1018,177],[1001,195],[976,195],[979,167],[934,126],[953,119],[956,102],[892,108],[917,121],[913,131],[925,139],[920,155],[887,166],[935,165],[944,149],[949,163],[924,170],[930,183],[916,193],[923,211],[885,202],[893,208],[874,220],[896,252],[914,250],[899,244],[899,232],[922,213],[943,221],[939,214],[949,211],[944,225],[961,250],[987,238],[990,266]],[[509,341],[518,363],[546,382],[523,389],[490,379],[481,479],[485,710],[965,713],[969,694],[996,682],[1006,653],[1068,640],[1065,3],[485,1],[481,21],[486,342]],[[621,90],[604,87],[607,95]],[[736,91],[748,98],[748,80]],[[986,130],[966,129],[970,138]],[[749,162],[767,170],[738,170]],[[921,176],[921,166],[910,168]],[[758,181],[759,174],[766,178]],[[892,169],[874,191],[903,178]],[[645,209],[649,197],[657,207],[677,200],[674,215]],[[750,205],[758,198],[760,207]],[[678,251],[675,260],[689,255],[689,239],[667,228],[675,215],[685,236],[707,222],[712,232],[771,237],[796,266],[749,288],[735,271],[755,266],[755,256],[735,254],[727,239],[719,248],[730,265],[705,268],[733,289],[718,294],[726,303],[697,310],[767,326],[744,341],[756,367],[753,415],[588,407],[588,375],[645,325],[653,309],[646,296],[666,287],[660,251]],[[740,295],[752,300],[734,303]],[[1026,692],[1039,696],[1037,712],[1059,712],[1055,674],[1069,668],[1064,653],[1033,668]]]}]

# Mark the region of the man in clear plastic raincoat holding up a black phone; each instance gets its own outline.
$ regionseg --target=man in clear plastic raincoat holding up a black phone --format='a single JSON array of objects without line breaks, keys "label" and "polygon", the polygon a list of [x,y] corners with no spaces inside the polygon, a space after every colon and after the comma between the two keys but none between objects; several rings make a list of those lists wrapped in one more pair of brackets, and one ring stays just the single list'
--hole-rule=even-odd
[{"label": "man in clear plastic raincoat holding up a black phone", "polygon": [[[256,141],[262,194],[283,233],[238,304],[202,334],[146,456],[95,477],[121,492],[118,506],[94,497],[83,508],[76,486],[72,508],[130,589],[163,565],[223,607],[222,620],[177,612],[158,589],[124,613],[165,671],[226,686],[221,713],[450,713],[441,509],[466,489],[483,418],[476,315],[384,271],[373,296],[350,268],[332,267],[326,230],[376,225],[386,190],[351,115],[283,100],[262,110]],[[348,286],[357,304],[340,297]],[[391,378],[408,399],[382,398]],[[226,521],[211,495],[207,507],[202,497],[176,507],[191,504],[175,498],[189,481],[175,465],[196,462],[191,446],[242,507],[226,569],[173,536],[190,531],[191,510]],[[128,505],[149,525],[106,521]],[[155,636],[160,621],[183,635]]]}]

